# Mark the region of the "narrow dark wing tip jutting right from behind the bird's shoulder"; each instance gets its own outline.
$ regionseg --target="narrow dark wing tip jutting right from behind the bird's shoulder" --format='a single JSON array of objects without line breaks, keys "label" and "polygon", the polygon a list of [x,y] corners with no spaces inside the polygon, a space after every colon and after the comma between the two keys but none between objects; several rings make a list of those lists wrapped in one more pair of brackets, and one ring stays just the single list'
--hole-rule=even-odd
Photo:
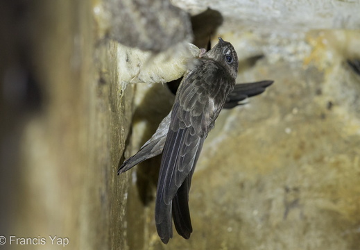
[{"label": "narrow dark wing tip jutting right from behind the bird's shoulder", "polygon": [[224,108],[234,108],[239,105],[240,101],[257,94],[262,94],[271,84],[273,84],[273,81],[236,84],[234,90],[228,95]]}]

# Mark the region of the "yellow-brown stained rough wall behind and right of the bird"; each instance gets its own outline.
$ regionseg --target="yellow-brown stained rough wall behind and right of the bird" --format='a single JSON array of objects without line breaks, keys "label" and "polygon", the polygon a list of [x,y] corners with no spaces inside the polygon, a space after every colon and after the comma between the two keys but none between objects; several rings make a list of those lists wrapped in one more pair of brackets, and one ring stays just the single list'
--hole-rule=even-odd
[{"label": "yellow-brown stained rough wall behind and right of the bird", "polygon": [[264,54],[238,82],[275,83],[218,117],[191,185],[190,240],[164,246],[151,205],[150,249],[359,249],[360,77],[345,63],[359,33],[221,36]]}]

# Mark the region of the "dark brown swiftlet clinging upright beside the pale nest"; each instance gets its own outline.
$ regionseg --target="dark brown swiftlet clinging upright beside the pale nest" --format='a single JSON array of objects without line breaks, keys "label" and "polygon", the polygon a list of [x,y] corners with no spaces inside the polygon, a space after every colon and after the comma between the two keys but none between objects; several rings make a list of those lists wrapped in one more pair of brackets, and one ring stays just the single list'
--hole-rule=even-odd
[{"label": "dark brown swiftlet clinging upright beside the pale nest", "polygon": [[148,158],[160,155],[160,173],[155,200],[157,234],[164,244],[179,235],[189,239],[193,231],[189,213],[191,178],[203,143],[221,109],[264,92],[273,81],[239,84],[235,88],[239,60],[230,42],[219,42],[202,51],[180,83],[175,101],[155,134],[139,152],[128,158],[118,174]]}]

